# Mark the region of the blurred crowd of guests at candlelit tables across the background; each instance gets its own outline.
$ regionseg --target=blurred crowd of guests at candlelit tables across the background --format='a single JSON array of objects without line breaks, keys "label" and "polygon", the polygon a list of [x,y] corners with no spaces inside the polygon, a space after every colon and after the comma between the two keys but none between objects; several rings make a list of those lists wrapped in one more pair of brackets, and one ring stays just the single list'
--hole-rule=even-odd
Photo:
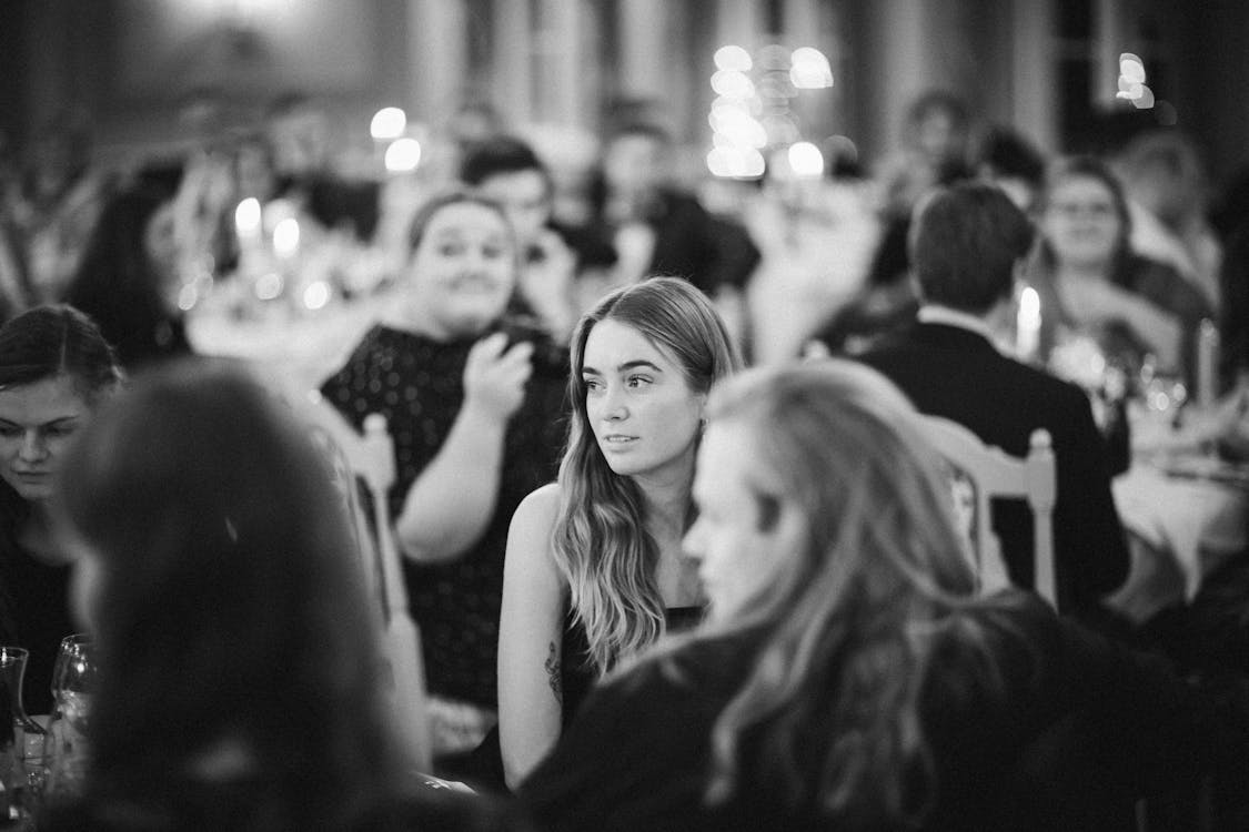
[{"label": "blurred crowd of guests at candlelit tables across the background", "polygon": [[[688,163],[653,101],[620,105],[601,136],[525,135],[466,102],[403,147],[380,140],[375,120],[370,158],[311,97],[240,119],[205,94],[182,112],[195,141],[109,167],[90,120],[64,111],[21,157],[0,157],[0,314],[67,301],[127,364],[192,352],[186,321],[206,309],[307,316],[383,291],[413,212],[461,183],[508,207],[525,252],[518,303],[555,336],[607,288],[671,273],[717,299],[752,362],[813,341],[853,353],[914,309],[917,200],[983,178],[1040,231],[1022,276],[1040,303],[1039,343],[1003,333],[1022,358],[1062,367],[1053,347],[1092,333],[1130,377],[1160,365],[1192,387],[1208,319],[1219,385],[1233,384],[1249,349],[1247,187],[1210,181],[1182,130],[1155,125],[1070,160],[987,123],[954,92],[926,92],[902,117],[904,148],[886,158],[841,140],[814,170],[777,152],[762,176],[729,178]],[[1110,279],[1080,278],[1099,273]]]}]

